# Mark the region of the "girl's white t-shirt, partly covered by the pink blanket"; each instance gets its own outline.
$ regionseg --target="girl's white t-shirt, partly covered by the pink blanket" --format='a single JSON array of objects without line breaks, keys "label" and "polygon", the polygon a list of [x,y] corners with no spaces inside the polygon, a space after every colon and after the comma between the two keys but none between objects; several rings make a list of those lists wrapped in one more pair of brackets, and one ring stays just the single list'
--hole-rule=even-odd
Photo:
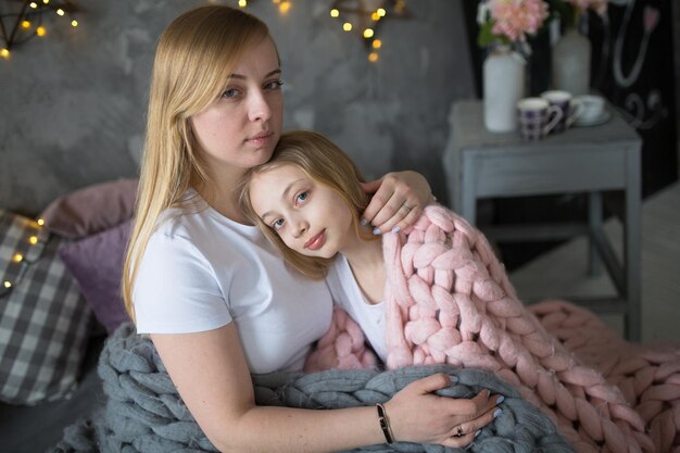
[{"label": "girl's white t-shirt, partly covered by the pink blanket", "polygon": [[385,362],[385,301],[373,304],[366,299],[354,278],[350,263],[342,254],[338,254],[328,268],[326,282],[332,299],[360,325],[373,349]]}]

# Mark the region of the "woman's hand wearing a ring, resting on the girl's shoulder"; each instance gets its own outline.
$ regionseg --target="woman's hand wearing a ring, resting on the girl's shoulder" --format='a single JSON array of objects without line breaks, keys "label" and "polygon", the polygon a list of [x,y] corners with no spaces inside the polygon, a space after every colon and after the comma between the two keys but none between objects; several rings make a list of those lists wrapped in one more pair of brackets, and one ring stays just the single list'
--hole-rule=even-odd
[{"label": "woman's hand wearing a ring, resting on the girl's shoulder", "polygon": [[362,184],[365,192],[373,193],[363,218],[388,232],[411,226],[432,200],[430,185],[416,172],[388,173],[378,180]]}]

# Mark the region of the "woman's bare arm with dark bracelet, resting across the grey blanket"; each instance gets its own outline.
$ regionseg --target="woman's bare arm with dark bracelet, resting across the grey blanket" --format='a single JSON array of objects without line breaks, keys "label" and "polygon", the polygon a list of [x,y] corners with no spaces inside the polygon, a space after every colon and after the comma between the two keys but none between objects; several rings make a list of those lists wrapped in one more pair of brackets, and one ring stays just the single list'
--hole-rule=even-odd
[{"label": "woman's bare arm with dark bracelet, resting across the grey blanket", "polygon": [[[199,334],[151,336],[182,400],[222,452],[332,452],[383,443],[376,408],[310,411],[256,406],[234,323]],[[495,397],[471,400],[431,392],[445,375],[413,382],[385,406],[399,441],[463,446],[493,419]],[[452,437],[463,423],[466,436]]]}]

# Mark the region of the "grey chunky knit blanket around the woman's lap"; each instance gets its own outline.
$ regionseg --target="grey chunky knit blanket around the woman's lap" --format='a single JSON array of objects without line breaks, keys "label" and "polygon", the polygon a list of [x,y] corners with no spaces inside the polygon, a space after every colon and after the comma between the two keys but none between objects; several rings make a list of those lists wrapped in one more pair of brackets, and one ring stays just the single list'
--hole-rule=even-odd
[{"label": "grey chunky knit blanket around the woman's lap", "polygon": [[[436,365],[390,372],[335,369],[313,374],[275,373],[253,376],[253,385],[260,405],[340,408],[385,402],[408,382],[439,372],[458,378],[457,383],[438,392],[443,397],[470,398],[482,389],[505,395],[501,404],[503,413],[482,429],[468,451],[572,452],[545,415],[488,372]],[[98,373],[106,394],[104,407],[88,419],[66,428],[63,439],[51,452],[217,451],[179,398],[151,340],[138,336],[133,325],[124,324],[106,340]],[[398,442],[353,451],[444,453],[463,450]]]}]

